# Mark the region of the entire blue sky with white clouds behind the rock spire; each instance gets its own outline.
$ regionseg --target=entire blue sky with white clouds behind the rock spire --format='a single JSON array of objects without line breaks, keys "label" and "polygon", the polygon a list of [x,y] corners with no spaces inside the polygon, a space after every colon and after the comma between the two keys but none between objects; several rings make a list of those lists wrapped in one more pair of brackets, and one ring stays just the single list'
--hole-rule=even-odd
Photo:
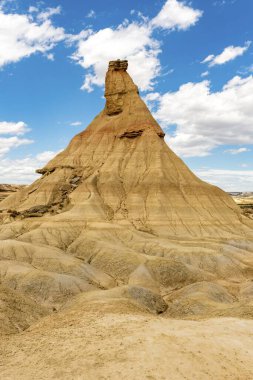
[{"label": "entire blue sky with white clouds behind the rock spire", "polygon": [[0,183],[28,183],[104,106],[110,59],[201,178],[253,190],[252,0],[0,1]]}]

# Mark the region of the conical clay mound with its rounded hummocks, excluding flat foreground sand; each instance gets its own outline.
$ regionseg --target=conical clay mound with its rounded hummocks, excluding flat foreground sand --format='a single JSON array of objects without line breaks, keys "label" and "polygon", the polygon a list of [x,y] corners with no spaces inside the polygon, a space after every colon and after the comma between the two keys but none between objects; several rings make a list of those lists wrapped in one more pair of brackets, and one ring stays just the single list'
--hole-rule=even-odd
[{"label": "conical clay mound with its rounded hummocks, excluding flat foreground sand", "polygon": [[[253,276],[252,221],[170,150],[127,61],[110,62],[105,98],[92,123],[38,170],[41,178],[0,203],[2,283],[49,309],[92,291],[92,299],[111,294],[156,312],[167,299],[173,316],[187,315],[185,299],[194,303],[201,288],[212,295],[201,315],[216,301],[236,314],[230,301],[244,302]],[[173,291],[184,287],[174,308]],[[229,294],[224,302],[219,293]]]}]

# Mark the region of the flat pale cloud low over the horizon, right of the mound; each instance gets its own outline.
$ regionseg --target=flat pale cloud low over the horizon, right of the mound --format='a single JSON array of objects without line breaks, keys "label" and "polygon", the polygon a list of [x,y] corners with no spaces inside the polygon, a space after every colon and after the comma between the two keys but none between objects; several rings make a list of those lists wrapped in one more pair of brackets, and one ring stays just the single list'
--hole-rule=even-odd
[{"label": "flat pale cloud low over the horizon, right of the mound", "polygon": [[253,190],[253,170],[198,169],[194,173],[225,191]]}]

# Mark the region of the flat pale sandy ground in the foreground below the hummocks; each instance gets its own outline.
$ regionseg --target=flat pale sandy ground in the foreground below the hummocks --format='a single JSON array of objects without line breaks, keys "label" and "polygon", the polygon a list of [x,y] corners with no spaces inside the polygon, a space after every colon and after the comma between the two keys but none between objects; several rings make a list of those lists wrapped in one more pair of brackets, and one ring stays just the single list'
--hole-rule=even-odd
[{"label": "flat pale sandy ground in the foreground below the hummocks", "polygon": [[123,304],[68,310],[2,337],[0,379],[253,379],[252,320],[165,319]]}]

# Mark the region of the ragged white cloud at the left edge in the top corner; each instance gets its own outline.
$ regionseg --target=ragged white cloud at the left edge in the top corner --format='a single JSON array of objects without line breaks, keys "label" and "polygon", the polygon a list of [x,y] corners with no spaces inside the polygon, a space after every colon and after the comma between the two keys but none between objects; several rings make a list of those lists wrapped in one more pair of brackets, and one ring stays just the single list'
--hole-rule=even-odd
[{"label": "ragged white cloud at the left edge in the top corner", "polygon": [[0,9],[0,67],[37,52],[45,54],[66,38],[63,28],[53,26],[51,15],[48,10],[34,21],[31,14],[7,14]]}]

